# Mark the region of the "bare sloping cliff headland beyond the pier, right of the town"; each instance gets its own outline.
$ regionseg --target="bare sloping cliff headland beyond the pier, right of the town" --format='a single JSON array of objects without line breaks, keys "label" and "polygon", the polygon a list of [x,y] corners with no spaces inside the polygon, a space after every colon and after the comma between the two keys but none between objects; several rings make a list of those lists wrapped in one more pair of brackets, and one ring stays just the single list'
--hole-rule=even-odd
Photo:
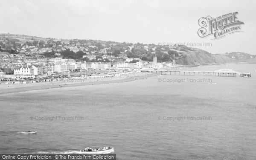
[{"label": "bare sloping cliff headland beyond the pier, right of the town", "polygon": [[175,62],[180,65],[227,63],[231,61],[232,59],[225,55],[212,55],[199,49],[183,53],[182,56],[175,59]]}]

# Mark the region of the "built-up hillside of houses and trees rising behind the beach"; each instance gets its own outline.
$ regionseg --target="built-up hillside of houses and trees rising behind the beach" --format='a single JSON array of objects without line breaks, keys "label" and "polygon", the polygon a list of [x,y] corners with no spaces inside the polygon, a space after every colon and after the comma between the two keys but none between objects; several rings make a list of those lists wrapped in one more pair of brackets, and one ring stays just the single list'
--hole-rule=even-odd
[{"label": "built-up hillside of houses and trees rising behind the beach", "polygon": [[[12,36],[20,36],[16,48],[9,43],[9,39],[12,41],[15,39]],[[152,61],[150,56],[160,52],[159,48],[157,49],[157,46],[153,44],[128,44],[77,39],[37,39],[36,37],[12,34],[7,35],[7,37],[2,34],[1,37],[0,34],[0,46],[2,49],[15,49],[15,52],[8,50],[8,52],[0,52],[2,73],[23,77],[79,70],[126,70],[127,68],[172,66],[172,64],[166,65],[163,63],[151,65],[151,62],[149,62]],[[70,52],[65,52],[68,49]],[[168,54],[164,50],[165,48],[161,47],[160,49],[163,54]],[[6,68],[9,70],[7,71]]]}]

